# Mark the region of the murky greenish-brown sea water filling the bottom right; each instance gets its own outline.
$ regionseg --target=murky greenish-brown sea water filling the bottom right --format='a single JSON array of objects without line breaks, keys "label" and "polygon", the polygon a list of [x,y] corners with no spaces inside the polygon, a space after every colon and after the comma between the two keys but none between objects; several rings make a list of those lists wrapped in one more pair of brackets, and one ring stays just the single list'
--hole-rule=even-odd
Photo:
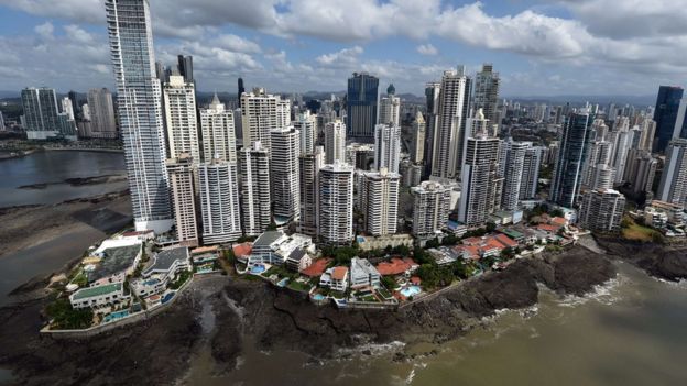
[{"label": "murky greenish-brown sea water filling the bottom right", "polygon": [[[189,385],[685,385],[687,283],[657,280],[624,263],[620,276],[586,297],[541,294],[536,307],[502,310],[455,341],[405,346],[414,360],[393,362],[402,342],[373,355],[307,363],[251,344],[237,370],[218,375],[201,352]],[[427,354],[432,351],[436,354]]]}]

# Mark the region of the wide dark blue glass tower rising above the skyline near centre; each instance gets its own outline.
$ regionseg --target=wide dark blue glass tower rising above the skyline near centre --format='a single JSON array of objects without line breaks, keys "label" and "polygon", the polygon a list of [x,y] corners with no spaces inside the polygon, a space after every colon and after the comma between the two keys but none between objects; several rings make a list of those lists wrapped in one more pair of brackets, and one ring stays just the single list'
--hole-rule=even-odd
[{"label": "wide dark blue glass tower rising above the skyline near centre", "polygon": [[353,73],[348,79],[346,96],[347,135],[355,139],[372,139],[377,122],[379,79],[368,73]]}]

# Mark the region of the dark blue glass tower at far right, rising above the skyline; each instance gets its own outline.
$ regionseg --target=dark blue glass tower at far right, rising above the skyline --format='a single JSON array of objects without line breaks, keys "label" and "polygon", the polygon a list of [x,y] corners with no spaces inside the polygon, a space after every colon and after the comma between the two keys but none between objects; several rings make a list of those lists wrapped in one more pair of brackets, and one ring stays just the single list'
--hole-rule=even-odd
[{"label": "dark blue glass tower at far right, rising above the skyline", "polygon": [[656,109],[654,110],[654,121],[656,122],[654,152],[664,153],[673,137],[683,92],[681,87],[661,86],[658,88]]}]

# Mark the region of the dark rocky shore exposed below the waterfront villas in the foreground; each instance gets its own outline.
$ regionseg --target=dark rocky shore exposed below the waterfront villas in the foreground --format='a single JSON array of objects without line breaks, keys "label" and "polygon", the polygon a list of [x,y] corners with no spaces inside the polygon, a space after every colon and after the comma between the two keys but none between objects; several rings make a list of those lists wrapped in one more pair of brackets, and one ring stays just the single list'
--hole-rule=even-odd
[{"label": "dark rocky shore exposed below the waterfront villas in the foreground", "polygon": [[535,305],[539,285],[581,295],[614,276],[606,256],[578,246],[517,261],[397,311],[316,307],[262,282],[215,276],[194,282],[171,310],[151,320],[83,341],[40,335],[46,299],[37,298],[0,309],[0,367],[12,368],[25,385],[168,384],[183,379],[189,361],[207,346],[215,371],[226,373],[244,344],[326,360],[361,341],[444,342],[499,309]]}]

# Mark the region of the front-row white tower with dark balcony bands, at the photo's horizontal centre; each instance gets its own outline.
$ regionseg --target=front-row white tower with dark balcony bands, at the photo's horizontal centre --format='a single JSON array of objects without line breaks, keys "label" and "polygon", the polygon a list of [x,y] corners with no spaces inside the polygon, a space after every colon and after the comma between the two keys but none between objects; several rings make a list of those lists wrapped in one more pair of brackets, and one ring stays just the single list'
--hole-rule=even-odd
[{"label": "front-row white tower with dark balcony bands, at the photo's horizontal centre", "polygon": [[317,186],[320,241],[332,245],[350,244],[353,240],[353,167],[338,161],[323,166]]}]

